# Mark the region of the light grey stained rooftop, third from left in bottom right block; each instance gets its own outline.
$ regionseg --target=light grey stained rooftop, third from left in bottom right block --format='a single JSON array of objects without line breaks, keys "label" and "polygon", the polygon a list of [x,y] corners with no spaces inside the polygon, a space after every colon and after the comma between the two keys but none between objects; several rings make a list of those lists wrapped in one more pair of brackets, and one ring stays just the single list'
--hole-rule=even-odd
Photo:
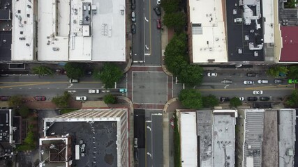
[{"label": "light grey stained rooftop, third from left in bottom right block", "polygon": [[214,111],[213,166],[234,166],[236,113]]}]

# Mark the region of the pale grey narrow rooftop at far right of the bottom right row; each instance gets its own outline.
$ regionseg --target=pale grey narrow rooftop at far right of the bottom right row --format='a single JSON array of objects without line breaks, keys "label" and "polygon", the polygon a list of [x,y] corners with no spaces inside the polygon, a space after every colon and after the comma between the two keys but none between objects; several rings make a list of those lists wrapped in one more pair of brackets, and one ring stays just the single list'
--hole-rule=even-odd
[{"label": "pale grey narrow rooftop at far right of the bottom right row", "polygon": [[292,167],[296,140],[296,110],[281,109],[278,116],[278,166]]}]

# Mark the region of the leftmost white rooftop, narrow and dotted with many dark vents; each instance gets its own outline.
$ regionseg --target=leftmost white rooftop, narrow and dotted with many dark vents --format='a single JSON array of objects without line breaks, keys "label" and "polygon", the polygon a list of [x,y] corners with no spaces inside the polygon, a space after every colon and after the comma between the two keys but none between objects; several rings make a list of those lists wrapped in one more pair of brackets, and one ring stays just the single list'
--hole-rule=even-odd
[{"label": "leftmost white rooftop, narrow and dotted with many dark vents", "polygon": [[11,61],[33,61],[33,1],[13,0]]}]

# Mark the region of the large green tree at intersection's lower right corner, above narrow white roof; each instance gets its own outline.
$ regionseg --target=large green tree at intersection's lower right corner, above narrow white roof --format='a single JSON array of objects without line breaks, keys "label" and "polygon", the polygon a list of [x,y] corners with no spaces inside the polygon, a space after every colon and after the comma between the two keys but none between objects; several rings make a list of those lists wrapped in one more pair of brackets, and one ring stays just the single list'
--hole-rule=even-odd
[{"label": "large green tree at intersection's lower right corner, above narrow white roof", "polygon": [[195,89],[183,89],[179,93],[179,101],[188,109],[202,109],[202,96]]}]

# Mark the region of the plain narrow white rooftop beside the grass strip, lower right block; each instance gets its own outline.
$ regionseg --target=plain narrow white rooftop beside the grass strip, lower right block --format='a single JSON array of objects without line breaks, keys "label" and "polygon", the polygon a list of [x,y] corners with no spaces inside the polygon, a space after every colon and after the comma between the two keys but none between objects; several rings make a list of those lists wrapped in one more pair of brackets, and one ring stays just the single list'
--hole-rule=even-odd
[{"label": "plain narrow white rooftop beside the grass strip, lower right block", "polygon": [[182,166],[198,166],[197,119],[195,112],[181,112],[181,161]]}]

